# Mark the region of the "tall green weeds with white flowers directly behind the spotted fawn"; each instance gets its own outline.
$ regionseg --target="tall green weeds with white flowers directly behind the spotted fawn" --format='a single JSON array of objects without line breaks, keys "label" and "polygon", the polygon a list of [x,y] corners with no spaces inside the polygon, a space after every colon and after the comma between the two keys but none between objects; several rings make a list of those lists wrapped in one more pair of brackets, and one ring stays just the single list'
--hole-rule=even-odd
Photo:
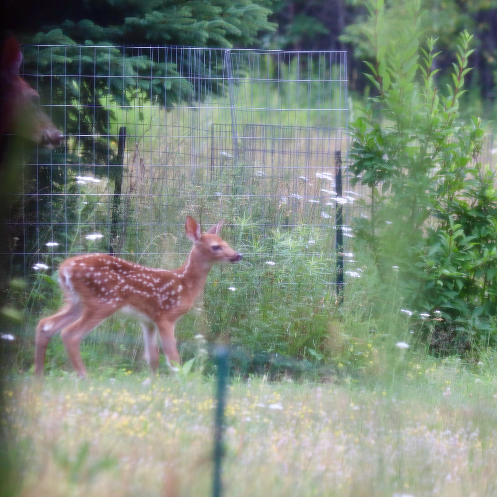
[{"label": "tall green weeds with white flowers directly behind the spotted fawn", "polygon": [[[179,266],[191,246],[182,223],[178,225],[178,219],[187,213],[213,221],[224,218],[222,235],[244,254],[240,264],[212,270],[202,298],[177,324],[184,360],[195,355],[194,337],[202,334],[208,346],[229,344],[236,351],[234,367],[243,375],[383,374],[388,364],[385,351],[398,341],[414,345],[410,326],[416,317],[408,319],[400,312],[396,282],[392,281],[389,295],[377,295],[377,275],[360,253],[345,253],[346,286],[339,305],[334,206],[326,205],[330,199],[321,193],[325,186],[329,188],[326,175],[306,185],[307,194],[315,200],[311,208],[320,215],[329,213],[317,225],[305,222],[309,207],[304,198],[308,197],[290,195],[295,185],[292,178],[285,180],[283,172],[267,177],[232,162],[206,184],[180,183],[173,195],[176,206],[166,209],[162,204],[169,198],[167,184],[163,187],[154,181],[156,176],[138,179],[128,172],[130,193],[123,197],[122,208],[129,231],[123,233],[122,256],[155,267]],[[154,174],[154,169],[149,172]],[[110,235],[104,200],[111,186],[105,181],[78,185],[79,194],[73,199],[78,222],[70,234],[70,252],[107,251]],[[233,195],[218,194],[228,187]],[[263,196],[268,191],[274,194]],[[199,200],[201,208],[195,205]],[[95,232],[102,238],[88,239],[88,234]],[[49,269],[34,271],[28,284],[11,294],[12,307],[24,311],[14,345],[20,370],[31,366],[36,322],[53,313],[61,302],[56,268],[65,254],[52,246],[44,246],[43,252],[40,250],[39,261]],[[90,334],[83,342],[83,359],[90,370],[142,369],[137,330],[133,322],[114,317]],[[55,337],[47,352],[47,371],[59,368],[70,370]]]}]

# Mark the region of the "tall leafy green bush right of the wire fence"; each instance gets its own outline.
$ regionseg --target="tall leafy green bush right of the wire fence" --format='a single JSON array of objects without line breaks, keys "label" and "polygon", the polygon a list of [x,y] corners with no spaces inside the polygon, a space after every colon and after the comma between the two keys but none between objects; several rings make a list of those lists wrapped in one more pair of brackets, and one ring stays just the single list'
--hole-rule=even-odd
[{"label": "tall leafy green bush right of the wire fence", "polygon": [[[497,191],[495,174],[478,158],[481,122],[459,121],[472,36],[455,46],[452,83],[437,88],[435,39],[423,46],[420,12],[395,41],[384,35],[381,0],[369,2],[376,64],[368,63],[376,96],[352,124],[351,169],[370,189],[368,216],[355,220],[360,247],[373,256],[379,294],[398,271],[404,307],[434,316],[420,336],[438,351],[495,344]],[[395,43],[395,46],[394,46]]]}]

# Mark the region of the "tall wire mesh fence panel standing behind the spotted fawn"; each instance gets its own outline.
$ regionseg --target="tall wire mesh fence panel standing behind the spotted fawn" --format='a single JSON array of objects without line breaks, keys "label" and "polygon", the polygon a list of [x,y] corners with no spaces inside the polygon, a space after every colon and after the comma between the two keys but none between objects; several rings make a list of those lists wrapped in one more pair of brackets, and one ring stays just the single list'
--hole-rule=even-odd
[{"label": "tall wire mesh fence panel standing behind the spotted fawn", "polygon": [[186,214],[204,226],[225,218],[236,240],[248,219],[264,236],[300,225],[334,232],[345,52],[23,50],[24,78],[65,146],[24,153],[8,226],[16,274],[82,252],[180,260]]}]

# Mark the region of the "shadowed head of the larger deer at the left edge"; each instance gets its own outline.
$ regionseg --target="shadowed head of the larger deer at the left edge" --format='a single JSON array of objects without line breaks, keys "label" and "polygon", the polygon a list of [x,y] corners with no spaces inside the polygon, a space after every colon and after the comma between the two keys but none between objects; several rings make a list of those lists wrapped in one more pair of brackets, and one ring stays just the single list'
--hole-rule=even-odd
[{"label": "shadowed head of the larger deer at the left edge", "polygon": [[11,132],[53,149],[62,135],[40,107],[40,95],[19,76],[22,53],[10,36],[0,60],[0,135]]}]

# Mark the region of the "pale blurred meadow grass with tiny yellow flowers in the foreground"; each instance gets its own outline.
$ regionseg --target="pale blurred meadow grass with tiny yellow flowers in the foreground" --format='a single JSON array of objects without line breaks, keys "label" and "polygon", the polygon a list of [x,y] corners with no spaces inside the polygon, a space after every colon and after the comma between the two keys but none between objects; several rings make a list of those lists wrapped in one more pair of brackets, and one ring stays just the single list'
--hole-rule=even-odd
[{"label": "pale blurred meadow grass with tiny yellow flowers in the foreground", "polygon": [[[407,354],[391,380],[234,379],[224,495],[497,495],[492,361]],[[215,381],[146,378],[26,374],[8,384],[15,495],[211,495]]]}]

